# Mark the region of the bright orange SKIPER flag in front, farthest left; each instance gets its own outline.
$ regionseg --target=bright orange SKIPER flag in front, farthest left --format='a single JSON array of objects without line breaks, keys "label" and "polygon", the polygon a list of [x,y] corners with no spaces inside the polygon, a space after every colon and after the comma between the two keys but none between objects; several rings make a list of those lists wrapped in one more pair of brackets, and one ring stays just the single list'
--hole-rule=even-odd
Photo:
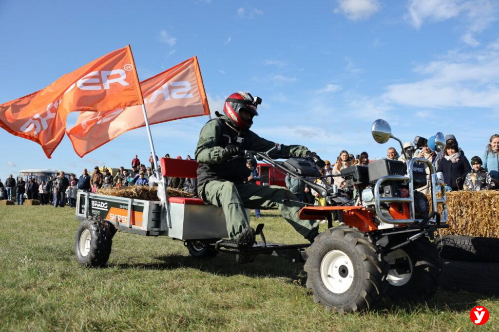
[{"label": "bright orange SKIPER flag in front, farthest left", "polygon": [[38,143],[50,158],[73,111],[108,111],[141,105],[130,45],[100,57],[46,88],[0,105],[0,127]]}]

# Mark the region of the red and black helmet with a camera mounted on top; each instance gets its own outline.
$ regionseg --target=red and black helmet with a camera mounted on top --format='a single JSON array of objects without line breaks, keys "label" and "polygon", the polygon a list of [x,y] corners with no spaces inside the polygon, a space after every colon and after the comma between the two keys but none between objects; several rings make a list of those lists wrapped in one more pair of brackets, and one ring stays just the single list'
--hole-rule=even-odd
[{"label": "red and black helmet with a camera mounted on top", "polygon": [[[236,92],[226,99],[224,113],[236,127],[246,131],[253,124],[253,117],[258,115],[256,109],[259,104],[261,104],[261,98],[253,98],[248,92]],[[250,119],[244,119],[241,111],[248,112]]]}]

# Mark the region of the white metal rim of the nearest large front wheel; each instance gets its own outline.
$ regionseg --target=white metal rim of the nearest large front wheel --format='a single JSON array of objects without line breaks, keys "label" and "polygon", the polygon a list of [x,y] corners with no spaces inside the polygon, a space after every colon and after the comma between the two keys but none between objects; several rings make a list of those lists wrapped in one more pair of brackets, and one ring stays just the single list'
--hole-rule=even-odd
[{"label": "white metal rim of the nearest large front wheel", "polygon": [[320,275],[326,288],[335,294],[345,293],[353,284],[352,260],[341,250],[332,250],[322,258]]}]

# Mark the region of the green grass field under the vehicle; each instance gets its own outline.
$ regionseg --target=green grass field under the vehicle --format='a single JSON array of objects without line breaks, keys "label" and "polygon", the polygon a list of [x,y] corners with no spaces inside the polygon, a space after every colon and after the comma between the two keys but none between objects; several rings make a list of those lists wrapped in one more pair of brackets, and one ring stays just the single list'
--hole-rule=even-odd
[{"label": "green grass field under the vehicle", "polygon": [[[300,242],[262,212],[268,241]],[[477,305],[490,312],[481,329],[499,330],[498,298],[439,291],[428,303],[383,300],[367,314],[338,315],[313,303],[302,264],[198,261],[167,238],[117,233],[108,266],[83,268],[77,226],[67,207],[0,206],[1,331],[469,331],[479,328],[470,320]]]}]

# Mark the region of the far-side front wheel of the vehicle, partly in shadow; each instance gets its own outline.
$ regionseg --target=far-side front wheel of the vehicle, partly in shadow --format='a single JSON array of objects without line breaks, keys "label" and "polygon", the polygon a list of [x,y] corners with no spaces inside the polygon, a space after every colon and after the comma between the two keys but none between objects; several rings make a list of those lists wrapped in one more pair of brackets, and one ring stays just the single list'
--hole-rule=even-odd
[{"label": "far-side front wheel of the vehicle, partly in shadow", "polygon": [[436,245],[428,238],[387,253],[384,259],[389,264],[387,295],[392,300],[424,301],[437,293],[442,277],[442,259]]}]

